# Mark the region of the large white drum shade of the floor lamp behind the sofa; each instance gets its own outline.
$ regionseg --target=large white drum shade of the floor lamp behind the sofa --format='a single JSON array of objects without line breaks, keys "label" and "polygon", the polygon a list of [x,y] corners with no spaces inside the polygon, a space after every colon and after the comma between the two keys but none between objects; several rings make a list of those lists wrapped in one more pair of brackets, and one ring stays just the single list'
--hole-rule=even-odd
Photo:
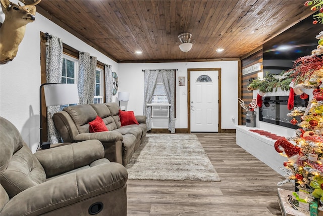
[{"label": "large white drum shade of the floor lamp behind the sofa", "polygon": [[80,103],[76,84],[58,83],[44,85],[46,106]]}]

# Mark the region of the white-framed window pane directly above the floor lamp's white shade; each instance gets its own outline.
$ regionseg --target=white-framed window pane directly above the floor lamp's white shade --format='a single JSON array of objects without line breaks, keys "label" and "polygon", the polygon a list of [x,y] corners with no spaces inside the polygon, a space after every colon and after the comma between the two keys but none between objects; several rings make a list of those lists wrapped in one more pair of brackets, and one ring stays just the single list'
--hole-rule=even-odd
[{"label": "white-framed window pane directly above the floor lamp's white shade", "polygon": [[63,55],[62,83],[77,83],[77,63],[77,59]]}]

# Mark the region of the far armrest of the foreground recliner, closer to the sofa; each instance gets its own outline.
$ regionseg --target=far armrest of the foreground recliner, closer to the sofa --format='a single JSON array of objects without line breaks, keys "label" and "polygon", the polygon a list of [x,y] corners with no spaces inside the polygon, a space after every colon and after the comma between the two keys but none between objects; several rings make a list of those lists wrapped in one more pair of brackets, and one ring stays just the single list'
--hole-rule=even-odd
[{"label": "far armrest of the foreground recliner, closer to the sofa", "polygon": [[100,141],[88,140],[38,151],[35,156],[43,166],[48,179],[103,158],[104,148]]}]

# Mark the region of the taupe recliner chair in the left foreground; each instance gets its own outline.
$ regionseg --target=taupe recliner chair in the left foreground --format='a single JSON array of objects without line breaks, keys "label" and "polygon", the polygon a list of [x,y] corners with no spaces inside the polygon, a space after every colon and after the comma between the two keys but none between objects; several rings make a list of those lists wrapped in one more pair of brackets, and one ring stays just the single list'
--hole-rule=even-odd
[{"label": "taupe recliner chair in the left foreground", "polygon": [[32,154],[0,117],[0,215],[127,215],[127,170],[89,140]]}]

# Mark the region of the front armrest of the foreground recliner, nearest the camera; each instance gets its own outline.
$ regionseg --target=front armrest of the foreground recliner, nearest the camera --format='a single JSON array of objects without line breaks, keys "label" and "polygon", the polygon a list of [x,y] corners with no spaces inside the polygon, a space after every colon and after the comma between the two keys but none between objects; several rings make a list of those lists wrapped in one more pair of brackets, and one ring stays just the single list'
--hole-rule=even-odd
[{"label": "front armrest of the foreground recliner, nearest the camera", "polygon": [[[40,215],[73,205],[91,197],[125,187],[127,170],[118,163],[105,163],[58,177],[14,196],[1,215]],[[67,210],[66,209],[66,210]],[[74,208],[75,214],[84,212]]]}]

